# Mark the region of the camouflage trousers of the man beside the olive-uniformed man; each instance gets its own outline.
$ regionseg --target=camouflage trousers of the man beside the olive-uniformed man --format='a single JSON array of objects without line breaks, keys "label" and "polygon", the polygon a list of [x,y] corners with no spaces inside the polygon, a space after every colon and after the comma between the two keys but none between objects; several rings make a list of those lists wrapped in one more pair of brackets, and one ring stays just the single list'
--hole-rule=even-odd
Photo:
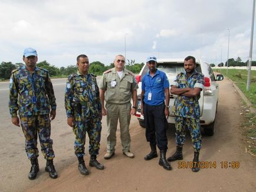
[{"label": "camouflage trousers of the man beside the olive-uniformed man", "polygon": [[101,120],[99,112],[88,114],[75,114],[73,132],[76,135],[74,150],[77,157],[84,156],[84,145],[86,143],[86,132],[89,137],[89,154],[99,154],[101,137]]}]

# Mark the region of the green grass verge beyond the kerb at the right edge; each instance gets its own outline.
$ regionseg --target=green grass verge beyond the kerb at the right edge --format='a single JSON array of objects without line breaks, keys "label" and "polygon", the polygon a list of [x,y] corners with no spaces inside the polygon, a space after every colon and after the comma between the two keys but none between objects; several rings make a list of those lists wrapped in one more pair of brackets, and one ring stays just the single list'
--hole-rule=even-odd
[{"label": "green grass verge beyond the kerb at the right edge", "polygon": [[[221,74],[227,77],[227,70],[222,69]],[[247,91],[247,74],[248,71],[245,69],[228,69],[228,78],[235,82],[237,87],[245,94],[245,96],[250,100],[252,107],[256,108],[256,71],[251,71],[251,84],[250,90]]]}]

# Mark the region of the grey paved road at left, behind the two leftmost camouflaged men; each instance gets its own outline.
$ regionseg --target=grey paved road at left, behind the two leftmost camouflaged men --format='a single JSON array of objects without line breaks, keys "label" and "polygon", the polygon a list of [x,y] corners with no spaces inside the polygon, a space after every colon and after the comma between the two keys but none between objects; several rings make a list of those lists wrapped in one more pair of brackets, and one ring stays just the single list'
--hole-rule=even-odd
[{"label": "grey paved road at left, behind the two leftmost camouflaged men", "polygon": [[[97,78],[98,81],[99,78]],[[51,123],[51,138],[56,154],[54,164],[57,171],[63,170],[67,165],[77,161],[73,150],[74,134],[72,128],[68,127],[66,123],[64,109],[65,82],[66,79],[52,80],[57,102],[57,116]],[[0,82],[0,191],[22,191],[45,180],[48,178],[48,174],[42,171],[37,180],[28,180],[27,174],[30,169],[30,161],[24,150],[24,135],[21,128],[11,123],[8,101],[9,82]],[[105,121],[106,117],[103,117],[103,124]],[[102,129],[101,145],[106,145],[106,127]],[[40,150],[39,143],[38,149]],[[41,155],[41,151],[38,161],[41,170],[44,170],[45,160]]]}]

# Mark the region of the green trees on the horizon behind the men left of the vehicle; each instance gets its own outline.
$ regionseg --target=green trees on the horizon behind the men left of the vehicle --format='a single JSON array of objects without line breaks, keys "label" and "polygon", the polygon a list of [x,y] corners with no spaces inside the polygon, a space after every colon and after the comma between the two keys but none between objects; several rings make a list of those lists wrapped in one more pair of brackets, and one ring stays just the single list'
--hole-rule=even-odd
[{"label": "green trees on the horizon behind the men left of the vehicle", "polygon": [[[145,65],[143,62],[141,64],[135,63],[135,60],[133,59],[127,59],[127,61],[128,62],[126,63],[126,69],[132,71],[134,74],[138,74],[140,72],[140,69],[142,69],[143,65]],[[8,80],[11,77],[12,70],[21,67],[22,65],[24,64],[21,62],[18,62],[16,64],[12,64],[12,62],[1,62],[0,80]],[[51,65],[47,61],[38,62],[37,67],[47,69],[50,77],[67,77],[68,75],[77,72],[77,65],[68,65],[67,67],[58,68],[54,65]],[[113,63],[105,66],[100,61],[94,61],[90,63],[89,72],[95,75],[102,75],[104,71],[113,67]]]}]

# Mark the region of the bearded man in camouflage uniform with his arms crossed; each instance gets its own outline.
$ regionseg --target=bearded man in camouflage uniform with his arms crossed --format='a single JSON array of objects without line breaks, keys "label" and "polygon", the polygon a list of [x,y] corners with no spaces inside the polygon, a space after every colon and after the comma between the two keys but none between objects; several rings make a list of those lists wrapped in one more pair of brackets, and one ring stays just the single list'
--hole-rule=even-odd
[{"label": "bearded man in camouflage uniform with his arms crossed", "polygon": [[175,99],[173,112],[175,114],[176,127],[176,152],[168,158],[168,161],[182,160],[182,145],[185,142],[185,127],[188,127],[193,148],[193,172],[199,171],[199,151],[201,149],[200,132],[200,92],[204,89],[204,75],[196,71],[195,58],[188,56],[184,61],[184,71],[180,72],[175,81],[170,85],[170,92],[178,95]]}]

